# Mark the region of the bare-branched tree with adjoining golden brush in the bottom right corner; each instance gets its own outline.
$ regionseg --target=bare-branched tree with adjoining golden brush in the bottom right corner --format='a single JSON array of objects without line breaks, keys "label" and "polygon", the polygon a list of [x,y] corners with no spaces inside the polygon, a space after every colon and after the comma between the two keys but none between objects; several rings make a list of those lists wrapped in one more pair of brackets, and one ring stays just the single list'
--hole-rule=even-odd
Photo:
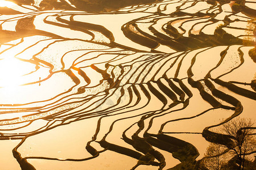
[{"label": "bare-branched tree with adjoining golden brush in the bottom right corner", "polygon": [[250,169],[255,165],[251,161],[252,154],[256,153],[256,138],[254,122],[246,118],[234,118],[226,122],[218,131],[229,135],[232,143],[219,145],[210,143],[200,162],[200,167],[209,170]]}]

